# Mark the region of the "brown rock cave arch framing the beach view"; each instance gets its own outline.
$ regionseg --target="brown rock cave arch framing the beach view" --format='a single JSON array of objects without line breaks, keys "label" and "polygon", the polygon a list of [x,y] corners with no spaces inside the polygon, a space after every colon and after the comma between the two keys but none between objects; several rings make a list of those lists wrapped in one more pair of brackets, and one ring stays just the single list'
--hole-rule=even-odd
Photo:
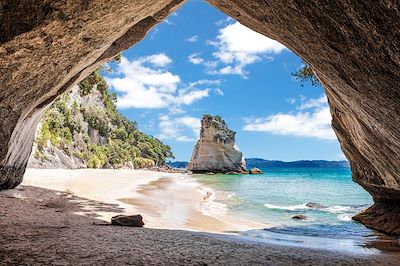
[{"label": "brown rock cave arch framing the beach view", "polygon": [[[22,181],[43,109],[184,0],[45,2],[0,3],[0,189]],[[312,66],[353,180],[375,201],[356,219],[400,234],[399,2],[208,2]]]}]

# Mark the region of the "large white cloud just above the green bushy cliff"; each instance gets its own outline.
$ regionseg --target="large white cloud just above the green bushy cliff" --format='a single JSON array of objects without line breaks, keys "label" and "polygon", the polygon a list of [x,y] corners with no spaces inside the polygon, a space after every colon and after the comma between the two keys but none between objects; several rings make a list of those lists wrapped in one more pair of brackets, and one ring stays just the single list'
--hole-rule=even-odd
[{"label": "large white cloud just above the green bushy cliff", "polygon": [[118,92],[120,108],[178,108],[209,96],[210,89],[197,89],[182,83],[181,78],[165,69],[172,60],[155,54],[129,61],[122,57],[118,77],[107,77]]}]

